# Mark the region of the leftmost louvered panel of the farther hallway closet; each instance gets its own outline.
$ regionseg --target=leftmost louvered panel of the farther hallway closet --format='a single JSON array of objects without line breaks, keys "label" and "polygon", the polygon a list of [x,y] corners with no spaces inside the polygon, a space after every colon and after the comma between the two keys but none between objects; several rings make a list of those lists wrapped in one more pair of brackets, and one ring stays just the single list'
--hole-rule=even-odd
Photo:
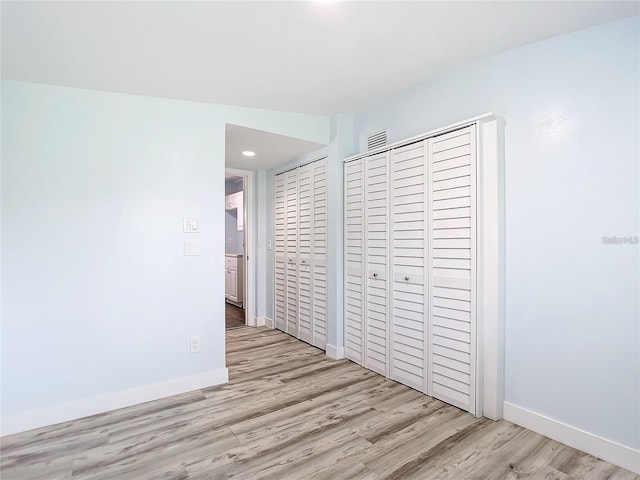
[{"label": "leftmost louvered panel of the farther hallway closet", "polygon": [[275,177],[275,281],[274,281],[274,316],[275,326],[280,330],[286,328],[286,235],[287,212],[285,195],[285,175]]}]

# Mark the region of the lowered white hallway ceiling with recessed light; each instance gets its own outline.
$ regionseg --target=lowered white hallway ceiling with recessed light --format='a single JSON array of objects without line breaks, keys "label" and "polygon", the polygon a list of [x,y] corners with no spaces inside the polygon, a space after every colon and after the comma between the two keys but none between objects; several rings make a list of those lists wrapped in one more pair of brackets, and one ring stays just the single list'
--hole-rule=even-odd
[{"label": "lowered white hallway ceiling with recessed light", "polygon": [[[227,124],[225,132],[226,167],[242,170],[270,170],[290,162],[324,145],[275,133]],[[245,157],[244,150],[256,153]]]}]

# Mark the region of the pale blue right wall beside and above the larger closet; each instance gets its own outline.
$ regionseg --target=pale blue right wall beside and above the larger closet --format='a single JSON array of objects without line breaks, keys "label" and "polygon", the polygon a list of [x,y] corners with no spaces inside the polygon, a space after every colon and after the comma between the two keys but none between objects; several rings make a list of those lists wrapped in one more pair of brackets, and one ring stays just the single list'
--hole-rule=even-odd
[{"label": "pale blue right wall beside and above the larger closet", "polygon": [[483,58],[355,116],[359,150],[506,119],[506,400],[640,446],[638,18]]}]

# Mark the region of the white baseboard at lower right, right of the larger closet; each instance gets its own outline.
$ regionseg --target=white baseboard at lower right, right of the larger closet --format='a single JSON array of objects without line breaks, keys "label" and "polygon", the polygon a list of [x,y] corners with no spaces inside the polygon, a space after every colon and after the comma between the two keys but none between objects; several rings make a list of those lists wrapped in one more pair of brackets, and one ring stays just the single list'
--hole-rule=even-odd
[{"label": "white baseboard at lower right, right of the larger closet", "polygon": [[504,402],[504,419],[640,474],[640,450]]}]

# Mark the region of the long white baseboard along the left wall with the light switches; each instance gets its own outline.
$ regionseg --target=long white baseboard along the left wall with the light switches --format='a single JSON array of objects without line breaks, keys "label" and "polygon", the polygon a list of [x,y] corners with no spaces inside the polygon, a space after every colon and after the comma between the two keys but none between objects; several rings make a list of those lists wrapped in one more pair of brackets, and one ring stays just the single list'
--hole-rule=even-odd
[{"label": "long white baseboard along the left wall with the light switches", "polygon": [[33,430],[60,422],[76,420],[118,408],[130,407],[139,403],[158,400],[200,388],[219,385],[229,381],[229,371],[218,368],[208,372],[196,373],[166,382],[152,383],[95,397],[82,398],[70,402],[57,403],[46,407],[34,408],[2,418],[0,435]]}]

